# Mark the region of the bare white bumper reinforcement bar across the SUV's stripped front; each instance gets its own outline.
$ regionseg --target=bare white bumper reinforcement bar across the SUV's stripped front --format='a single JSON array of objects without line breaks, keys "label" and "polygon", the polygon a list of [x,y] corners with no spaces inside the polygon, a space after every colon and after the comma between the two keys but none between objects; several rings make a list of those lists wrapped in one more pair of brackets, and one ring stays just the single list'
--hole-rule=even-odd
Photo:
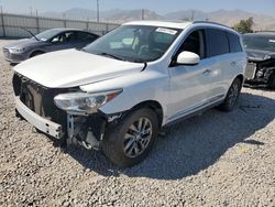
[{"label": "bare white bumper reinforcement bar across the SUV's stripped front", "polygon": [[36,129],[41,130],[42,132],[54,137],[55,139],[63,138],[63,129],[62,126],[44,119],[29,109],[19,98],[19,96],[14,97],[15,99],[15,108],[18,112],[31,124],[33,124]]}]

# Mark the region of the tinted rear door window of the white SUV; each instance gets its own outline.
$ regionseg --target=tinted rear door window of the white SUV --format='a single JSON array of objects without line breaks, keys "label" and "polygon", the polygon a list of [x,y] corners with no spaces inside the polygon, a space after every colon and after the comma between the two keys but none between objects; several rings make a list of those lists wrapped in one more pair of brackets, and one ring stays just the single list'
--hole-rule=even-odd
[{"label": "tinted rear door window of the white SUV", "polygon": [[229,43],[227,33],[221,30],[206,30],[207,55],[208,57],[229,53]]}]

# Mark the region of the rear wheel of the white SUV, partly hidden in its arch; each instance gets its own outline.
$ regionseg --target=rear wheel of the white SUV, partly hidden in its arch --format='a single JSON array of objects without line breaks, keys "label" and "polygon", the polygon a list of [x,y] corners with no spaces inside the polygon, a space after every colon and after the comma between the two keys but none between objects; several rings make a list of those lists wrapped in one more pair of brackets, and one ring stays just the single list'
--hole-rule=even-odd
[{"label": "rear wheel of the white SUV, partly hidden in its arch", "polygon": [[235,78],[228,90],[228,95],[223,103],[221,103],[218,107],[218,109],[227,112],[232,111],[238,102],[241,89],[242,89],[242,81],[240,78]]}]

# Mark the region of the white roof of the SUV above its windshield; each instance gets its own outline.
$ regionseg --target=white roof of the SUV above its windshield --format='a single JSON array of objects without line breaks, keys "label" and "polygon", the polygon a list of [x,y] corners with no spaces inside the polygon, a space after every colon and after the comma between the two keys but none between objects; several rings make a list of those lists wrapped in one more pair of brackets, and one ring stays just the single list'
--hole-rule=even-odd
[{"label": "white roof of the SUV above its windshield", "polygon": [[173,29],[186,29],[188,25],[193,24],[193,22],[172,22],[172,21],[133,21],[124,23],[123,25],[151,25],[151,26],[164,26],[164,28],[173,28]]}]

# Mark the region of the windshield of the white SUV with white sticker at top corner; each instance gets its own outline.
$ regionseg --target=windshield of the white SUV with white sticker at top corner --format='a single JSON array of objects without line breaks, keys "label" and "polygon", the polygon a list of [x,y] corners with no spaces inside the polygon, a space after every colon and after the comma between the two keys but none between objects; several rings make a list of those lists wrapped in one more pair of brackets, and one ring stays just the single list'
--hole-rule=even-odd
[{"label": "windshield of the white SUV with white sticker at top corner", "polygon": [[160,58],[182,30],[122,25],[89,44],[84,51],[122,61],[145,63]]}]

